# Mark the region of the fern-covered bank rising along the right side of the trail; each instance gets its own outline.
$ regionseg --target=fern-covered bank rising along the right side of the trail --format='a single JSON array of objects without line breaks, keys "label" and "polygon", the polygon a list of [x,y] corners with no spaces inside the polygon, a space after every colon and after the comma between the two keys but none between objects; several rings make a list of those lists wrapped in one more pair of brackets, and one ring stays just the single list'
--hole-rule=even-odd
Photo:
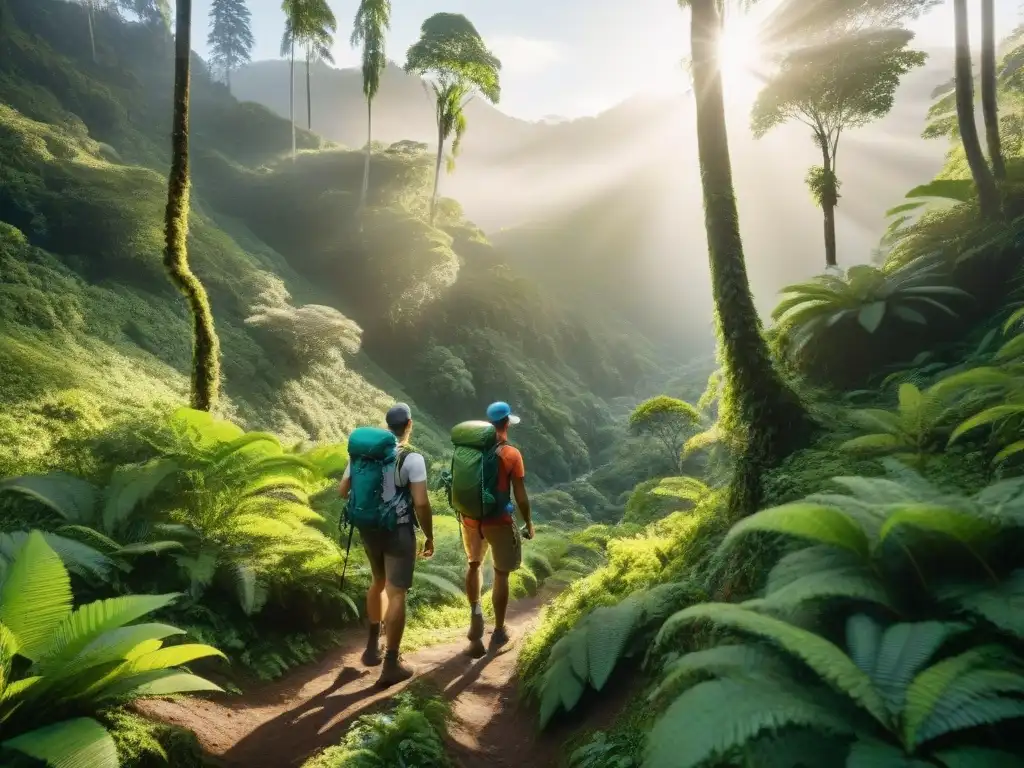
[{"label": "fern-covered bank rising along the right side of the trail", "polygon": [[[1006,78],[1000,87],[1014,136],[1020,100]],[[625,520],[646,528],[630,531],[630,547],[686,542],[685,557],[660,555],[652,578],[627,589],[608,581],[609,560],[553,601],[520,658],[543,724],[584,708],[609,667],[642,672],[644,714],[630,709],[578,742],[570,765],[1024,759],[1013,145],[1006,221],[979,216],[954,147],[939,179],[891,212],[874,266],[784,292],[773,348],[823,431],[761,475],[777,506],[729,520],[721,455],[706,457],[701,479],[641,483]],[[714,423],[701,427],[687,451],[716,443]],[[682,610],[645,621],[640,606],[672,590]]]}]

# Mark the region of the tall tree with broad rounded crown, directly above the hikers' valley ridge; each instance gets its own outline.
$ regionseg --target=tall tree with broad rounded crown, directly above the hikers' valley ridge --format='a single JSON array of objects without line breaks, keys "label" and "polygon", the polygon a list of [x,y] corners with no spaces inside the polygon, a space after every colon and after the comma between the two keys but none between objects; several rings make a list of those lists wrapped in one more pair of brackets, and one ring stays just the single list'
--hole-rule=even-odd
[{"label": "tall tree with broad rounded crown, directly above the hikers' valley ridge", "polygon": [[[430,223],[437,212],[444,143],[452,142],[452,157],[459,155],[466,133],[466,104],[478,92],[492,103],[501,98],[499,76],[502,62],[483,44],[483,39],[461,13],[435,13],[420,28],[420,39],[409,49],[406,72],[430,78],[437,121],[437,162],[434,194],[430,199]],[[449,161],[449,170],[455,167]]]}]

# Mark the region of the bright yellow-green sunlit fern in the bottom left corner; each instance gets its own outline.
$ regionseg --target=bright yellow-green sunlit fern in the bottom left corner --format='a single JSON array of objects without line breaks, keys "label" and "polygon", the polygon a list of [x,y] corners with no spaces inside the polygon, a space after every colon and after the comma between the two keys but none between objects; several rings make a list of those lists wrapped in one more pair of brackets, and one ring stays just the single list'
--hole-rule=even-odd
[{"label": "bright yellow-green sunlit fern in the bottom left corner", "polygon": [[[180,630],[132,624],[174,598],[133,595],[73,609],[60,558],[41,534],[29,535],[0,584],[0,748],[58,768],[117,768],[102,726],[62,718],[140,696],[219,691],[175,668],[220,651],[199,644],[165,647],[163,641]],[[27,665],[15,668],[19,656]]]}]

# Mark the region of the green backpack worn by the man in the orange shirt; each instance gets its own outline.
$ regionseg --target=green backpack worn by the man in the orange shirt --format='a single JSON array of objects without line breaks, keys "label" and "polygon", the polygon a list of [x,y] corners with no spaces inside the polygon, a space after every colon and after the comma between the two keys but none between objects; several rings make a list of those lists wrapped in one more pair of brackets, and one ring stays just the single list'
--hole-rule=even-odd
[{"label": "green backpack worn by the man in the orange shirt", "polygon": [[464,421],[452,428],[452,470],[444,478],[449,503],[460,517],[482,520],[500,515],[511,497],[498,493],[498,450],[505,444],[485,421]]}]

